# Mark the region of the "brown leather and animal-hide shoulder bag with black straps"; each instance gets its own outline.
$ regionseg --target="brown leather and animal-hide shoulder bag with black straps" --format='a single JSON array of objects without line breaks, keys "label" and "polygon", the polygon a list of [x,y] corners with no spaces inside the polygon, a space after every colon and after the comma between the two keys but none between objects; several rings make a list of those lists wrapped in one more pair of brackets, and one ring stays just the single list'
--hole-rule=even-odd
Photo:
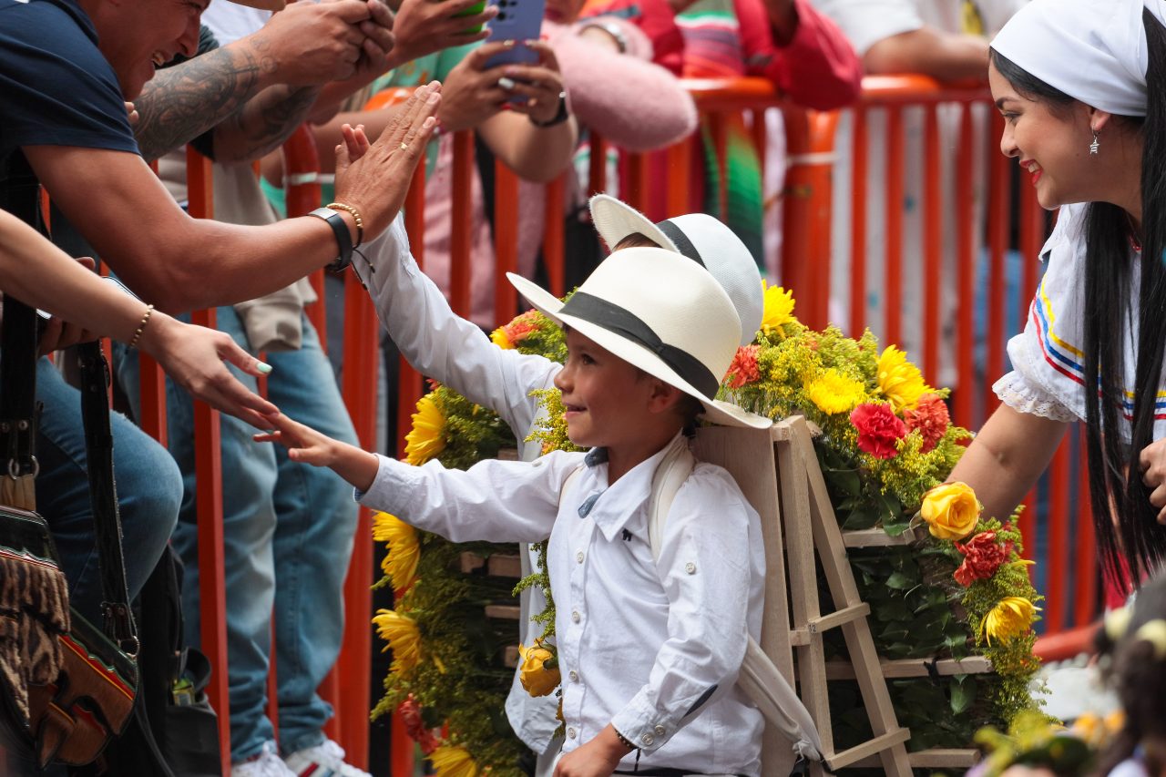
[{"label": "brown leather and animal-hide shoulder bag with black straps", "polygon": [[[14,154],[0,206],[34,228],[40,187]],[[42,230],[43,232],[43,230]],[[38,411],[36,314],[3,301],[0,350],[0,736],[41,768],[80,765],[126,726],[138,687],[138,637],[121,554],[113,482],[110,370],[97,343],[80,346],[82,414],[90,502],[104,593],[104,630],[68,608],[68,586],[48,524],[35,512]]]}]

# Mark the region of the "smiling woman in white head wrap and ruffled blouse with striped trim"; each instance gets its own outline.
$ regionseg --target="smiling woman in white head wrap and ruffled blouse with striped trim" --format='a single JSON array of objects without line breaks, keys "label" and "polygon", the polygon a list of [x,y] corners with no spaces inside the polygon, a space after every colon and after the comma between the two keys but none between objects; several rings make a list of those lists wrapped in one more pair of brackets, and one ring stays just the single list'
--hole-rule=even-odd
[{"label": "smiling woman in white head wrap and ruffled blouse with striped trim", "polygon": [[1083,421],[1102,562],[1132,586],[1166,560],[1163,21],[1163,0],[1034,0],[992,42],[1000,150],[1060,212],[1003,405],[951,474],[1004,517]]}]

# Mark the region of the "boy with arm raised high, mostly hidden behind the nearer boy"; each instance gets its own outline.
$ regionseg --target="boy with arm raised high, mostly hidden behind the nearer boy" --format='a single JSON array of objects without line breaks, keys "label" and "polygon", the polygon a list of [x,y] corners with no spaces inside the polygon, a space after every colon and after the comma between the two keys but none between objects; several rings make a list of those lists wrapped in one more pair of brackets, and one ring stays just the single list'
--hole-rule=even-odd
[{"label": "boy with arm raised high, mostly hidden behind the nearer boy", "polygon": [[[359,154],[359,148],[350,147]],[[721,284],[742,322],[740,344],[750,343],[761,326],[761,276],[740,238],[716,218],[689,214],[653,223],[635,209],[607,195],[590,201],[591,220],[612,250],[658,246],[705,267]],[[471,401],[497,412],[518,440],[519,457],[542,454],[538,442],[525,442],[540,407],[532,392],[549,388],[562,369],[542,356],[500,349],[477,324],[456,315],[444,294],[417,267],[409,252],[403,218],[398,218],[364,256],[353,257],[353,270],[365,281],[377,315],[401,355],[424,376],[451,387]],[[538,567],[529,546],[520,554],[524,576]],[[520,640],[531,644],[531,617],[546,609],[541,590],[528,588],[520,598]],[[561,741],[557,699],[532,696],[514,673],[506,699],[506,716],[522,742],[538,756],[536,775],[549,774]]]}]

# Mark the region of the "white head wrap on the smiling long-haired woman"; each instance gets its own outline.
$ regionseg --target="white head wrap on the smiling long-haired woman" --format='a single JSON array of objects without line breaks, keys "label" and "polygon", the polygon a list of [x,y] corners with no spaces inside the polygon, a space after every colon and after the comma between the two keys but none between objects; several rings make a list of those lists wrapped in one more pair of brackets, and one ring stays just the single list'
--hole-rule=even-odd
[{"label": "white head wrap on the smiling long-haired woman", "polygon": [[1032,0],[1004,26],[992,48],[1087,105],[1145,116],[1143,8],[1166,24],[1166,0]]}]

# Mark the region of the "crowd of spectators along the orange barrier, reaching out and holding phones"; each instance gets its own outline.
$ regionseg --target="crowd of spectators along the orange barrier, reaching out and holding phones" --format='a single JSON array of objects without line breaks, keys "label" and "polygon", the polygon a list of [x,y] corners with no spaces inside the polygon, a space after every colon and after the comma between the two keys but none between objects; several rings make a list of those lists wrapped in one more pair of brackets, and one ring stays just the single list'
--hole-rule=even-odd
[{"label": "crowd of spectators along the orange barrier, reaching out and holding phones", "polygon": [[[982,77],[983,33],[998,27],[985,16],[1020,4],[547,0],[542,40],[517,43],[535,61],[491,66],[491,56],[515,43],[485,42],[498,7],[477,10],[471,0],[301,0],[286,8],[272,0],[0,0],[0,170],[27,160],[52,202],[51,239],[66,246],[0,211],[0,289],[52,315],[36,370],[36,496],[75,607],[99,621],[85,441],[78,392],[47,355],[108,336],[118,341],[114,373],[131,411],[140,411],[140,351],[168,374],[167,446],[115,414],[114,466],[129,593],[141,590],[171,542],[187,566],[191,643],[199,635],[192,402],[224,413],[230,662],[218,668],[230,680],[232,774],[363,775],[326,738],[332,710],[316,692],[339,651],[356,504],[330,471],[250,441],[275,406],[356,441],[304,315],[315,299],[305,276],[337,258],[338,242],[343,253],[345,239],[367,243],[388,226],[424,156],[426,270],[448,290],[451,135],[472,128],[471,313],[489,326],[506,313],[493,310],[494,160],[522,180],[519,270],[533,276],[543,187],[566,170],[577,172],[568,176],[567,235],[596,240],[589,225],[574,229],[585,215],[592,133],[630,150],[694,132],[712,142],[681,76],[760,76],[793,103],[843,107],[857,99],[864,71]],[[419,88],[414,98],[392,102],[403,86]],[[328,178],[321,204],[351,205],[326,218],[285,217],[279,149],[304,123]],[[337,156],[345,124],[364,125],[373,140],[391,127],[408,131],[409,142],[388,148],[382,139],[379,152],[350,162]],[[770,127],[775,148],[780,132]],[[213,220],[187,212],[188,144],[213,161]],[[726,220],[772,272],[763,243],[768,192],[744,120],[730,125],[728,144]],[[690,210],[700,211],[712,206],[721,172],[702,144],[694,154]],[[614,186],[617,176],[609,180]],[[0,202],[6,187],[0,175]],[[98,281],[92,259],[66,253],[99,257],[136,296]],[[203,308],[216,309],[217,331],[189,323]],[[266,399],[258,396],[264,376]],[[267,718],[273,650],[278,740]]]}]

